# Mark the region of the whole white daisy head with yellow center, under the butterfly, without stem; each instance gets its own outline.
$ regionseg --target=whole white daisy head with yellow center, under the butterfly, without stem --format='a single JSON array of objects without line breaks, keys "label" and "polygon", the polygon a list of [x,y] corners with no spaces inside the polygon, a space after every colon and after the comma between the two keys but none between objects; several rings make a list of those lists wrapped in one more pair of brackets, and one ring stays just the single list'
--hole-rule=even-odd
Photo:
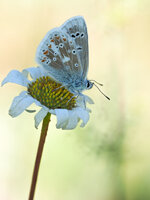
[{"label": "whole white daisy head with yellow center, under the butterfly, without stem", "polygon": [[[29,75],[32,80],[28,79]],[[47,76],[43,68],[31,67],[22,72],[12,70],[2,81],[2,85],[8,82],[27,88],[13,99],[9,109],[12,117],[17,117],[24,110],[29,111],[27,108],[35,103],[42,107],[34,117],[36,128],[48,112],[56,115],[57,128],[74,129],[80,120],[81,127],[87,124],[90,110],[86,108],[86,103],[93,104],[92,99],[86,95],[75,97],[60,83]]]}]

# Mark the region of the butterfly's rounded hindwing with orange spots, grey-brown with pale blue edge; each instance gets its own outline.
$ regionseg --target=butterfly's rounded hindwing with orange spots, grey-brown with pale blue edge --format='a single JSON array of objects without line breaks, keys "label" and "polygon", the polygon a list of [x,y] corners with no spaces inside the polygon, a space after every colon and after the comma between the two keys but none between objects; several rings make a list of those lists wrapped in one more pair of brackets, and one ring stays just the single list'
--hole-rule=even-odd
[{"label": "butterfly's rounded hindwing with orange spots, grey-brown with pale blue edge", "polygon": [[49,31],[36,52],[36,61],[56,81],[69,85],[82,76],[75,41],[61,28]]}]

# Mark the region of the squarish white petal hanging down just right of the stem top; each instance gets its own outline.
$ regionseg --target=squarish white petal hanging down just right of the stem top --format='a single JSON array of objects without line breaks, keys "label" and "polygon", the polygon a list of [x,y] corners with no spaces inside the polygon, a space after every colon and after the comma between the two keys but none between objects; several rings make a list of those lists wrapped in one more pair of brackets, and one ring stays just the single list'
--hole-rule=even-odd
[{"label": "squarish white petal hanging down just right of the stem top", "polygon": [[69,120],[69,112],[66,109],[56,109],[55,110],[56,117],[57,117],[57,128],[66,127],[68,120]]}]

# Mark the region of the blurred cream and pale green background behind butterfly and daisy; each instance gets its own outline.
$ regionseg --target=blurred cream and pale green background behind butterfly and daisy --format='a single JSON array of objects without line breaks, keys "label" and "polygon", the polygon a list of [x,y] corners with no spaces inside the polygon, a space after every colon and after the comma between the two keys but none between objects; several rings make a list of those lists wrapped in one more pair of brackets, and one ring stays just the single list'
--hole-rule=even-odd
[{"label": "blurred cream and pale green background behind butterfly and daisy", "polygon": [[[85,128],[57,130],[52,116],[35,200],[150,199],[150,1],[0,1],[0,82],[12,69],[36,66],[45,34],[84,16],[95,104]],[[7,84],[0,98],[0,199],[28,198],[40,129],[34,113],[8,115],[24,88]],[[38,110],[39,108],[36,107]]]}]

